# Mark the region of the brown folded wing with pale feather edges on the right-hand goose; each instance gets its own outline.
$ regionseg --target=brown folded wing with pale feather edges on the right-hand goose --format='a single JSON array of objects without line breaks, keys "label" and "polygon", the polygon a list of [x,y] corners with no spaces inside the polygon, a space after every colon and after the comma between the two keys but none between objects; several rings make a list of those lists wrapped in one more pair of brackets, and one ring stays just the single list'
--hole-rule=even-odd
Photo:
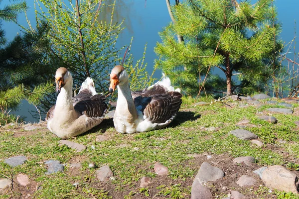
[{"label": "brown folded wing with pale feather edges on the right-hand goose", "polygon": [[182,103],[182,94],[168,92],[153,95],[144,109],[144,118],[152,123],[164,123],[174,116]]}]

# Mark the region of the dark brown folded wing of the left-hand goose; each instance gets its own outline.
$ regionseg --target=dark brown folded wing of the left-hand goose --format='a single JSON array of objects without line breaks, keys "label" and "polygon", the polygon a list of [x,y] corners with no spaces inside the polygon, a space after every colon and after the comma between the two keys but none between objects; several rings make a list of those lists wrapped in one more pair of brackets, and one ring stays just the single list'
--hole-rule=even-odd
[{"label": "dark brown folded wing of the left-hand goose", "polygon": [[95,95],[89,99],[78,101],[74,108],[81,115],[87,117],[102,117],[107,110],[106,98],[103,95]]}]

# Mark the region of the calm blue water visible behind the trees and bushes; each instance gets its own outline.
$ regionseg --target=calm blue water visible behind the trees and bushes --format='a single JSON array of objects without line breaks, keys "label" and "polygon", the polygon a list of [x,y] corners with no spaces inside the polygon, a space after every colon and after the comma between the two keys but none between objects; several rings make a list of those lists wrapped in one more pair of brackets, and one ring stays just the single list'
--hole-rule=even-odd
[{"label": "calm blue water visible behind the trees and bushes", "polygon": [[[256,0],[252,0],[255,2]],[[11,1],[13,2],[13,1]],[[174,0],[171,1],[173,3]],[[3,0],[1,7],[5,4],[9,4],[9,0]],[[129,45],[131,37],[134,36],[131,53],[134,55],[135,60],[140,59],[143,56],[144,47],[147,43],[146,63],[148,63],[149,72],[152,71],[153,60],[156,59],[156,55],[153,52],[153,48],[156,42],[160,42],[158,32],[162,30],[164,26],[170,23],[165,0],[117,0],[118,6],[116,6],[117,13],[115,18],[122,20],[125,18],[125,31],[119,38],[119,46]],[[28,19],[34,25],[34,1],[27,0],[27,4],[30,7],[27,15]],[[286,43],[290,42],[294,38],[294,20],[297,21],[297,36],[299,32],[299,0],[276,0],[275,4],[278,10],[278,18],[282,22],[283,31],[280,35]],[[26,25],[26,19],[23,14],[18,17],[18,22],[22,25]],[[13,39],[16,33],[20,33],[18,25],[13,23],[3,22],[3,29],[6,32],[8,40]],[[299,39],[297,39],[299,40]],[[299,41],[296,44],[297,52],[299,52]],[[292,51],[293,52],[293,51]],[[289,57],[293,59],[294,55],[290,54]],[[214,73],[219,71],[215,70]],[[219,72],[221,75],[222,72]],[[160,71],[154,74],[155,78],[160,78]],[[35,122],[36,120],[31,116],[29,111],[36,110],[34,106],[28,104],[27,101],[23,101],[20,106],[20,110],[15,111],[15,114],[25,115],[27,118],[25,121]]]}]

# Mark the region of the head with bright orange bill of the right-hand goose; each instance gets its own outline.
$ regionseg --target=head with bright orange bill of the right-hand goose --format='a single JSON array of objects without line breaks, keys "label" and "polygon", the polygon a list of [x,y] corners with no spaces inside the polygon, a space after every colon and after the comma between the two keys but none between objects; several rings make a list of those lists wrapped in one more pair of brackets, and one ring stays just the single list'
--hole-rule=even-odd
[{"label": "head with bright orange bill of the right-hand goose", "polygon": [[115,66],[110,74],[110,87],[109,92],[113,93],[115,87],[118,85],[123,85],[129,81],[129,75],[124,69],[124,67],[117,65]]}]

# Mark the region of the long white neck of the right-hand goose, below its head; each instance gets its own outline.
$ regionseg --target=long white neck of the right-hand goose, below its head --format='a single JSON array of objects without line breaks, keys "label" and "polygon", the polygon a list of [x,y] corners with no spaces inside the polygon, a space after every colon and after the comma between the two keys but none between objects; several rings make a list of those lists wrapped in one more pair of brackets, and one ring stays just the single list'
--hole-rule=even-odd
[{"label": "long white neck of the right-hand goose, below its head", "polygon": [[136,107],[132,99],[129,82],[118,85],[118,99],[115,111],[126,116],[132,116],[134,120],[138,118]]}]

